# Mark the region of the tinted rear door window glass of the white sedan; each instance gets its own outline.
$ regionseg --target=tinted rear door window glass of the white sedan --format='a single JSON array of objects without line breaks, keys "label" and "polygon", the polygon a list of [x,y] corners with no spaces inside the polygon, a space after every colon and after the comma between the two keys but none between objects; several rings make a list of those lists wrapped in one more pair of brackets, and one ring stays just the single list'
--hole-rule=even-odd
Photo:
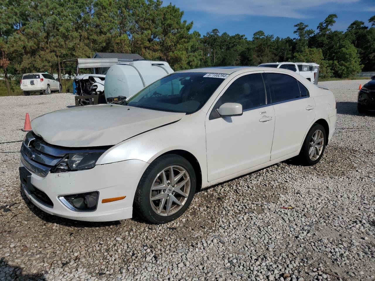
[{"label": "tinted rear door window glass of the white sedan", "polygon": [[272,103],[284,102],[300,97],[300,88],[297,79],[287,74],[267,73],[268,80],[272,86]]}]

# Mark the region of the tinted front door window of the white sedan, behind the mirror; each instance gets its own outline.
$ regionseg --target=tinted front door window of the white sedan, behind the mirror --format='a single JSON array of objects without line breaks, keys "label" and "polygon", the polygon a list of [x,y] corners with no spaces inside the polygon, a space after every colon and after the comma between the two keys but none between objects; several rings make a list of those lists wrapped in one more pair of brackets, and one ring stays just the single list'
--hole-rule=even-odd
[{"label": "tinted front door window of the white sedan, behind the mirror", "polygon": [[262,75],[255,73],[237,78],[220,97],[215,108],[227,102],[240,103],[243,111],[266,105]]}]

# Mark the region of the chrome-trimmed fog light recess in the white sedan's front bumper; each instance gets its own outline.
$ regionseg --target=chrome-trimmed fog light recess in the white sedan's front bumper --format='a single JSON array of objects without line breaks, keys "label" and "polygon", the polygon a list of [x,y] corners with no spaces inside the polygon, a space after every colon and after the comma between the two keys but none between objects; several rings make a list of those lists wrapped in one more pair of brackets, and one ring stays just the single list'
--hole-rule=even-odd
[{"label": "chrome-trimmed fog light recess in the white sedan's front bumper", "polygon": [[92,212],[98,206],[99,192],[87,192],[59,196],[58,199],[72,211]]}]

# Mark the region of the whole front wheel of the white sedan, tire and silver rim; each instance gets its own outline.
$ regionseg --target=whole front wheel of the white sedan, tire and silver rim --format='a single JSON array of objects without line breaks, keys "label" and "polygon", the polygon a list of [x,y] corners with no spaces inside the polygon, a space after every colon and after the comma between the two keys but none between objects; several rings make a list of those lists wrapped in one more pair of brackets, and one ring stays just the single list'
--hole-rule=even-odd
[{"label": "whole front wheel of the white sedan, tire and silver rim", "polygon": [[176,154],[154,160],[139,181],[134,208],[153,224],[168,223],[189,207],[196,188],[192,165]]}]

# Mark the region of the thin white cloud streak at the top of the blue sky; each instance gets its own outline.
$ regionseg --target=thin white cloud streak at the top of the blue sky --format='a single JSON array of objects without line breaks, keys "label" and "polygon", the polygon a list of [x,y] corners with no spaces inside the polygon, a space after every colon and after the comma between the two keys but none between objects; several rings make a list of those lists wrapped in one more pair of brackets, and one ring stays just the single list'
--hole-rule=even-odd
[{"label": "thin white cloud streak at the top of the blue sky", "polygon": [[[280,16],[284,18],[311,17],[309,9],[327,4],[356,3],[360,0],[173,0],[172,4],[185,11],[207,12],[214,15]],[[334,12],[334,11],[332,11]],[[232,19],[233,20],[233,19]]]}]

